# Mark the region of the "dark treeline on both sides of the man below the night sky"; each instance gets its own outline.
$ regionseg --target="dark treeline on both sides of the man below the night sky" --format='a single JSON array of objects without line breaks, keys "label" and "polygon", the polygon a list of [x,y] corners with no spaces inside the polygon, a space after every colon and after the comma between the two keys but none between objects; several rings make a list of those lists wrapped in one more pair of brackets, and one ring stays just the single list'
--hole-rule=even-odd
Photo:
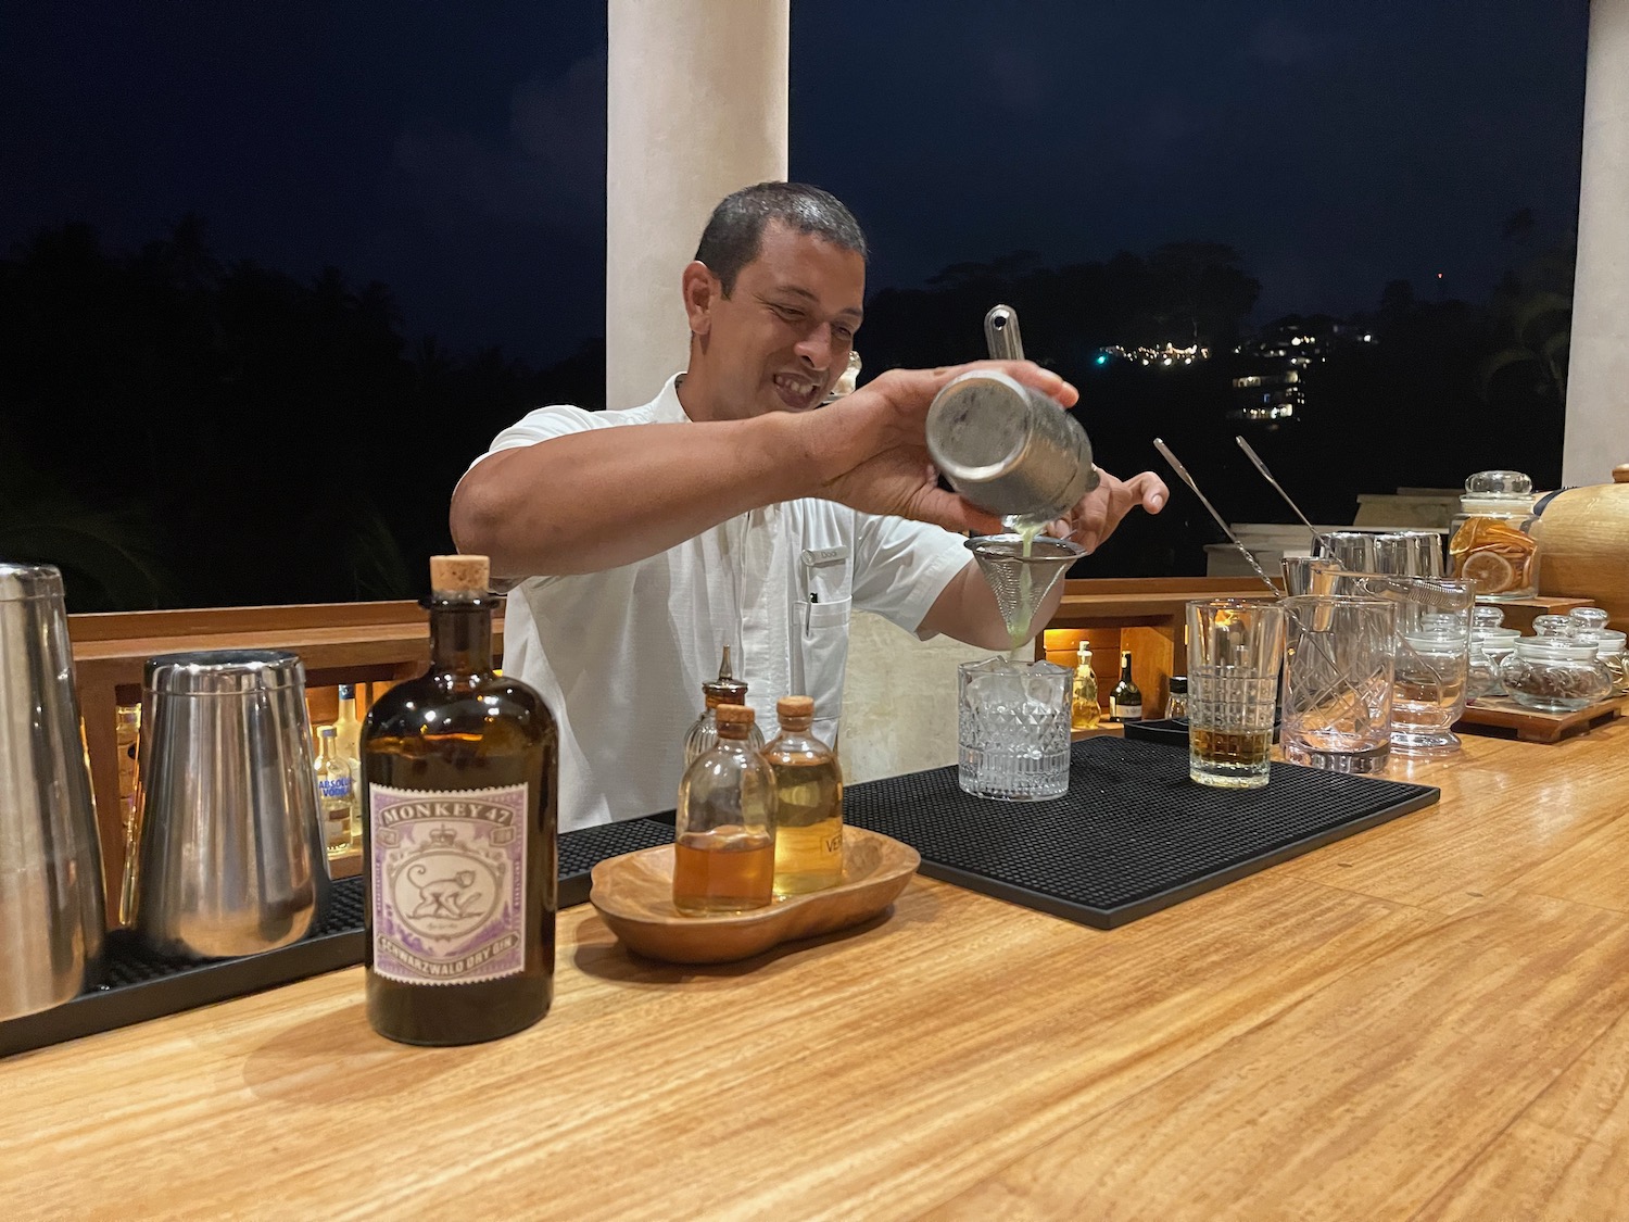
[{"label": "dark treeline on both sides of the man below the night sky", "polygon": [[[1554,486],[1570,267],[1567,249],[1530,257],[1484,306],[1393,280],[1373,313],[1269,324],[1319,339],[1289,422],[1228,419],[1233,378],[1256,371],[1235,345],[1261,285],[1202,241],[1062,267],[1016,251],[885,288],[862,380],[982,355],[984,313],[1007,301],[1026,355],[1080,386],[1104,468],[1163,471],[1165,437],[1232,520],[1284,521],[1232,443],[1248,430],[1315,518],[1350,521],[1360,492],[1482,468]],[[448,497],[497,430],[544,402],[604,406],[599,339],[542,371],[409,341],[388,287],[223,266],[197,217],[134,256],[83,225],[37,235],[0,262],[0,556],[60,564],[75,611],[407,596],[451,546]],[[1210,357],[1106,357],[1166,342]],[[1077,572],[1204,572],[1218,539],[1178,489]]]}]

